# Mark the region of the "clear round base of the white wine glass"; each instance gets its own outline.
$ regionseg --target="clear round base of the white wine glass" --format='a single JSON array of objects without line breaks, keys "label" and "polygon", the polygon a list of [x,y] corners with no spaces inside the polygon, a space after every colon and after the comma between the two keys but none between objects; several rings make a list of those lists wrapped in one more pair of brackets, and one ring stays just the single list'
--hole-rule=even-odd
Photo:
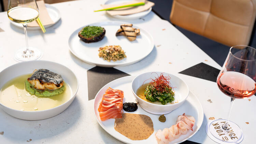
[{"label": "clear round base of the white wine glass", "polygon": [[29,51],[26,52],[26,48],[21,48],[19,49],[16,54],[14,59],[18,62],[22,61],[30,61],[30,60],[38,60],[42,58],[43,54],[39,49],[34,48],[34,47],[29,47]]}]

